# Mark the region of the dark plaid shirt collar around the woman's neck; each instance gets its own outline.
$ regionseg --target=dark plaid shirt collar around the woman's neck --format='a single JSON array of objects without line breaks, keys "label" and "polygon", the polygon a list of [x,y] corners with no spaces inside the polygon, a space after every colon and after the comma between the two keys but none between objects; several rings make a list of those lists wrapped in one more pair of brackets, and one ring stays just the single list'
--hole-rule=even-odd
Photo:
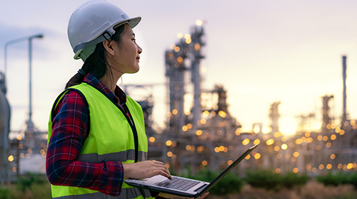
[{"label": "dark plaid shirt collar around the woman's neck", "polygon": [[88,73],[86,77],[84,77],[83,82],[86,82],[88,85],[95,87],[97,90],[99,90],[104,95],[106,95],[106,97],[108,97],[109,99],[113,99],[114,102],[118,104],[119,102],[121,104],[126,103],[126,94],[123,90],[121,90],[121,88],[118,85],[116,85],[115,87],[115,91],[114,91],[115,95],[114,95],[114,93],[111,92],[111,90],[108,87],[106,87],[106,85],[104,85],[101,81],[99,81],[96,77],[94,77],[90,73]]}]

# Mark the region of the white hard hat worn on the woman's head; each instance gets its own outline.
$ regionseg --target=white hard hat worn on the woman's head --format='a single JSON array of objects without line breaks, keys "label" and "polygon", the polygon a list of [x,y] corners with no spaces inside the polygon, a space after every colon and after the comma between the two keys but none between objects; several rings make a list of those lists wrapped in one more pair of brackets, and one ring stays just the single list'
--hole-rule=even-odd
[{"label": "white hard hat worn on the woman's head", "polygon": [[124,23],[134,28],[140,21],[140,16],[129,18],[118,6],[105,0],[87,1],[69,18],[67,31],[74,59],[85,61],[94,52],[97,43],[113,36],[114,28]]}]

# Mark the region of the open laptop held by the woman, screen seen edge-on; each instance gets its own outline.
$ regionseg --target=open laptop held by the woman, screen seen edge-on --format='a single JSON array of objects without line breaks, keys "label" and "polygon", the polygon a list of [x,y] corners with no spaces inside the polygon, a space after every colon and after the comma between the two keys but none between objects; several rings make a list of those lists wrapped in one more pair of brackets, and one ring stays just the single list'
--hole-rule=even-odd
[{"label": "open laptop held by the woman, screen seen edge-on", "polygon": [[258,144],[252,146],[248,150],[246,150],[239,158],[236,159],[233,163],[231,163],[228,168],[226,168],[221,174],[219,174],[216,179],[214,179],[211,183],[196,181],[189,178],[181,178],[178,176],[172,176],[172,180],[164,176],[154,176],[151,178],[144,179],[126,179],[125,183],[128,185],[153,190],[160,193],[169,193],[171,195],[178,195],[181,197],[187,198],[198,198],[198,196],[202,195],[209,189],[216,185],[218,181],[220,181],[227,173],[229,173],[238,163],[240,163],[248,154],[251,153],[254,149],[256,149]]}]

